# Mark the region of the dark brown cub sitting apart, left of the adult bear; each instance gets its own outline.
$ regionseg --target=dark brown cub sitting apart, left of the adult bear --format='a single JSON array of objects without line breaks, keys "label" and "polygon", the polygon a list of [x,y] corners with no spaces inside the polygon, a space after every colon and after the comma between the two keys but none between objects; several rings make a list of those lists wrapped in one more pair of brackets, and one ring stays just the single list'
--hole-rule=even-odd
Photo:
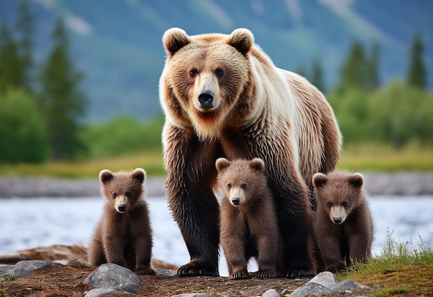
[{"label": "dark brown cub sitting apart, left of the adult bear", "polygon": [[146,173],[99,174],[105,196],[102,218],[98,222],[89,249],[91,265],[115,263],[136,274],[155,274],[150,267],[152,231],[147,202],[143,199]]}]

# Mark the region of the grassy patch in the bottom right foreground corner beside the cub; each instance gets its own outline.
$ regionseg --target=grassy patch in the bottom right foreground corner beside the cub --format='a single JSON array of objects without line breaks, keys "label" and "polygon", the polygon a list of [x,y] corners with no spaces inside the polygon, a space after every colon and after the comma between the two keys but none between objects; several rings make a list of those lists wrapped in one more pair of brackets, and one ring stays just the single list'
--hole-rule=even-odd
[{"label": "grassy patch in the bottom right foreground corner beside the cub", "polygon": [[433,252],[420,242],[396,242],[388,232],[379,256],[336,274],[340,280],[354,279],[374,289],[371,296],[425,296],[433,291]]}]

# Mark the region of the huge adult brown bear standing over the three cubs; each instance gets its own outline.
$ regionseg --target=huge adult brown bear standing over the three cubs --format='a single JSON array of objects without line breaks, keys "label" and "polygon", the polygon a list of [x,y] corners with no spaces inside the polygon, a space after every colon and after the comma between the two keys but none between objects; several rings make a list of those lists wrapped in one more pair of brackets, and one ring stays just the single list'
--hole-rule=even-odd
[{"label": "huge adult brown bear standing over the three cubs", "polygon": [[341,136],[317,88],[277,68],[247,29],[230,35],[165,32],[160,77],[165,111],[166,197],[191,260],[181,276],[218,274],[219,204],[214,162],[260,157],[284,240],[288,277],[317,273],[308,185],[333,171]]}]

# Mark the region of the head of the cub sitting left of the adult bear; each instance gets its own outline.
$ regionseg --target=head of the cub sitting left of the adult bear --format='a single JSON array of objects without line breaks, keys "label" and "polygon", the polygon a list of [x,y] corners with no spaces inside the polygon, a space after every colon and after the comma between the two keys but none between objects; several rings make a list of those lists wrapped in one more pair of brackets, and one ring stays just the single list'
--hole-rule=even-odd
[{"label": "head of the cub sitting left of the adult bear", "polygon": [[119,213],[126,213],[133,209],[136,202],[144,195],[146,172],[137,168],[132,172],[112,173],[104,169],[99,173],[102,193],[107,202],[113,205]]}]

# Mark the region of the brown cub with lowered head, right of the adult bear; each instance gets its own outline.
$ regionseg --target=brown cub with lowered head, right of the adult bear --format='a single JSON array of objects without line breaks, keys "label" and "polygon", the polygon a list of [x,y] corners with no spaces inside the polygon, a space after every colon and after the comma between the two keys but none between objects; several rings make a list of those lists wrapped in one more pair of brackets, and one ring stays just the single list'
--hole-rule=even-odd
[{"label": "brown cub with lowered head, right of the adult bear", "polygon": [[371,256],[373,218],[360,173],[315,173],[317,199],[315,230],[329,271],[365,262]]}]

